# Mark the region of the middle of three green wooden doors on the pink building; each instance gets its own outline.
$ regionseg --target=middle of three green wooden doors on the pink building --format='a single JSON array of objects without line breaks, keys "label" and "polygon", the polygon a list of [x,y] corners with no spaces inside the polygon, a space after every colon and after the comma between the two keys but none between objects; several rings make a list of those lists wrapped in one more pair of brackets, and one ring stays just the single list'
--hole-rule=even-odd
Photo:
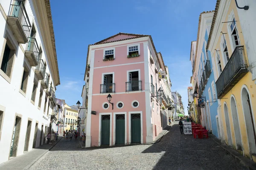
[{"label": "middle of three green wooden doors on the pink building", "polygon": [[116,144],[125,144],[125,115],[116,115]]}]

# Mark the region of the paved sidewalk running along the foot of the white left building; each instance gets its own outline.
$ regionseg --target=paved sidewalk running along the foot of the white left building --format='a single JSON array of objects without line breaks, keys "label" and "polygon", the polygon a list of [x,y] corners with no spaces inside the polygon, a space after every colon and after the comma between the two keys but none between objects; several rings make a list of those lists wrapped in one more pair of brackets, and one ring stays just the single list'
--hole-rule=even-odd
[{"label": "paved sidewalk running along the foot of the white left building", "polygon": [[[57,144],[61,140],[61,136],[58,137],[58,141],[55,141]],[[45,153],[47,153],[52,147],[52,144],[43,144],[40,147],[30,150],[29,152],[24,153],[23,155],[12,158],[9,161],[6,161],[0,164],[0,170],[27,170],[39,158],[41,158]]]}]

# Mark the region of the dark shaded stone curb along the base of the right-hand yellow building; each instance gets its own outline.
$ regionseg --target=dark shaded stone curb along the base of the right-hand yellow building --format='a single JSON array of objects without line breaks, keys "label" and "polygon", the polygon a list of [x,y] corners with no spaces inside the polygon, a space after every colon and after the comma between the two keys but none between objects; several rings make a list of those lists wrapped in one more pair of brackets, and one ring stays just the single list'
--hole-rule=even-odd
[{"label": "dark shaded stone curb along the base of the right-hand yellow building", "polygon": [[244,157],[243,155],[238,153],[236,150],[233,150],[231,147],[227,146],[226,144],[222,144],[221,141],[218,138],[216,138],[214,135],[209,135],[209,138],[215,141],[222,149],[226,151],[226,153],[228,153],[230,156],[236,159],[237,162],[247,167],[248,170],[256,170],[256,163],[254,163],[254,161]]}]

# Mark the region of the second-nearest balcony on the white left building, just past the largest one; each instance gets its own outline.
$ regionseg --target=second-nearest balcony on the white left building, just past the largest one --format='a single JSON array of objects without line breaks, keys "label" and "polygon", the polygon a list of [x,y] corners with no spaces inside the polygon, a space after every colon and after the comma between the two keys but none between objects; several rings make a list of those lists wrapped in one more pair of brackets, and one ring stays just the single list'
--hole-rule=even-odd
[{"label": "second-nearest balcony on the white left building, just past the largest one", "polygon": [[30,66],[37,66],[38,65],[37,58],[39,58],[39,53],[40,53],[38,43],[36,42],[35,38],[29,37],[28,39],[29,39],[29,42],[26,45],[25,56],[29,61]]}]

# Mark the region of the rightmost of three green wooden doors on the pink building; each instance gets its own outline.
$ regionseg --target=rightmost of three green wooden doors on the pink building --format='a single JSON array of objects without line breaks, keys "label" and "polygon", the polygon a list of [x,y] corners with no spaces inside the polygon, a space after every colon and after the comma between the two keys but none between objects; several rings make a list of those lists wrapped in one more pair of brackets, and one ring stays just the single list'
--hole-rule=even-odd
[{"label": "rightmost of three green wooden doors on the pink building", "polygon": [[140,114],[131,114],[131,143],[140,143]]}]

